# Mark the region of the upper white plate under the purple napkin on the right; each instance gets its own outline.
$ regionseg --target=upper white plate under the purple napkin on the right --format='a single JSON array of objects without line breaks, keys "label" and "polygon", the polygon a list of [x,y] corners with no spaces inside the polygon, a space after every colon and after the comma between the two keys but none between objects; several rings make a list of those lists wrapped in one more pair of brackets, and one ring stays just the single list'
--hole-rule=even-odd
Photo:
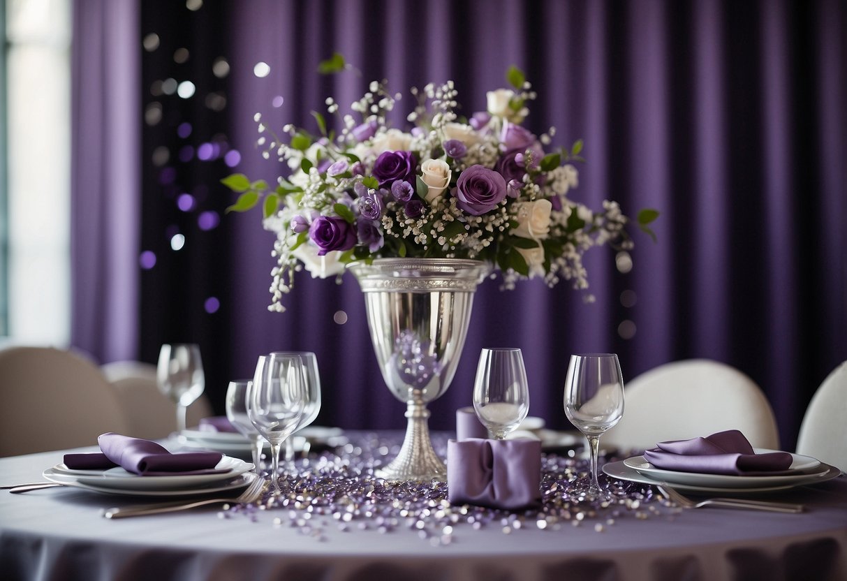
[{"label": "upper white plate under the purple napkin on the right", "polygon": [[[771,450],[758,449],[758,453]],[[789,470],[795,470],[794,474],[783,474],[780,476],[730,476],[727,474],[710,474],[699,472],[678,472],[656,468],[648,462],[644,456],[633,456],[623,462],[628,468],[633,468],[639,473],[650,476],[659,482],[673,484],[690,484],[692,486],[727,486],[731,488],[758,488],[761,486],[779,486],[793,484],[795,480],[814,479],[819,473],[824,472],[822,463],[811,456],[800,456],[791,454],[792,462]]]}]

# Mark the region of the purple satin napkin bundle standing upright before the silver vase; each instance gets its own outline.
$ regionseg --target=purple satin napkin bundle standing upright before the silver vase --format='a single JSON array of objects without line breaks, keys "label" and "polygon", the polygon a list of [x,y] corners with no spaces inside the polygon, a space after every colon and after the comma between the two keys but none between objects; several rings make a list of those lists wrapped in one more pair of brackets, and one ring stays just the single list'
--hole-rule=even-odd
[{"label": "purple satin napkin bundle standing upright before the silver vase", "polygon": [[447,496],[451,504],[516,510],[541,500],[539,440],[447,442]]}]

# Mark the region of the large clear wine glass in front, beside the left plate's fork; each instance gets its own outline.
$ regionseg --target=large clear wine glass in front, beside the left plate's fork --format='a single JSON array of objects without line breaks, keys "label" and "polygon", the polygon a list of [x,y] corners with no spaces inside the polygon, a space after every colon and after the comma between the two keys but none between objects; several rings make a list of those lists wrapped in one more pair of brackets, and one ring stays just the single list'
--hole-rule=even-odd
[{"label": "large clear wine glass in front, beside the left plate's fork", "polygon": [[306,373],[306,364],[300,356],[263,355],[247,390],[247,417],[270,443],[271,484],[278,492],[280,447],[297,428],[309,401]]}]

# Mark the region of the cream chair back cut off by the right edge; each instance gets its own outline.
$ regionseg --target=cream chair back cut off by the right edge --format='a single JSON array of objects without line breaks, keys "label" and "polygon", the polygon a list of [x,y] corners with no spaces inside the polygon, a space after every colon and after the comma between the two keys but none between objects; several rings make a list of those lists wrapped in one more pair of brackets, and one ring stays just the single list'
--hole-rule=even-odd
[{"label": "cream chair back cut off by the right edge", "polygon": [[800,424],[797,453],[847,470],[847,361],[812,396]]}]

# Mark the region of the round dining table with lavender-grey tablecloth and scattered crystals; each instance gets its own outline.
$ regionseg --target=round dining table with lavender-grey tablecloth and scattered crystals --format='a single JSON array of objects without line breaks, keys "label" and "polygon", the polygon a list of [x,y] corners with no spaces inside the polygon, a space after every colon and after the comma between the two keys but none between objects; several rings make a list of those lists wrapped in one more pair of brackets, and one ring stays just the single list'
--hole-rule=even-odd
[{"label": "round dining table with lavender-grey tablecloth and scattered crystals", "polygon": [[[450,433],[434,433],[444,454]],[[655,485],[601,475],[611,501],[575,494],[579,447],[542,454],[541,500],[506,511],[451,504],[443,482],[374,468],[401,433],[346,432],[283,462],[279,495],[254,503],[107,518],[160,498],[60,485],[0,490],[0,578],[130,581],[712,581],[847,579],[847,478],[750,495],[798,513],[686,508]],[[179,447],[176,440],[166,445]],[[69,452],[0,458],[0,485],[37,482]],[[601,462],[621,462],[606,451]],[[237,493],[233,493],[235,496]],[[169,499],[166,499],[169,500]]]}]

